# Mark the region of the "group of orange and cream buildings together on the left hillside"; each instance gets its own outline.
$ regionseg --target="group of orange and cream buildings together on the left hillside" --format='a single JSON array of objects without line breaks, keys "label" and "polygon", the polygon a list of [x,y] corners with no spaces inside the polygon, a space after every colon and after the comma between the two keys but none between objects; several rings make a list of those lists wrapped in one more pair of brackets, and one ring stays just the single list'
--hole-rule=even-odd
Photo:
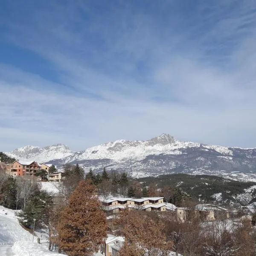
[{"label": "group of orange and cream buildings together on the left hillside", "polygon": [[[45,170],[47,172],[47,179],[49,181],[62,181],[61,172],[49,173],[49,168],[52,164],[46,163],[37,163],[35,161],[14,161],[10,164],[5,164],[5,172],[11,176],[29,176],[29,177],[38,177],[36,174]],[[39,177],[40,178],[40,177]]]}]

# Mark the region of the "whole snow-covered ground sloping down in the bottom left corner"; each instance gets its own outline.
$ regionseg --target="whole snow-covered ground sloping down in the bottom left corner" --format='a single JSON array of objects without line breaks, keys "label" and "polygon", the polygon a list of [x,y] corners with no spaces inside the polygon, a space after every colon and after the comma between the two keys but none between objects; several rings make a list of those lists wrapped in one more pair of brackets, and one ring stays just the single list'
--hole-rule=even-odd
[{"label": "whole snow-covered ground sloping down in the bottom left corner", "polygon": [[0,206],[0,256],[60,256],[32,241],[32,234],[20,226],[15,211]]}]

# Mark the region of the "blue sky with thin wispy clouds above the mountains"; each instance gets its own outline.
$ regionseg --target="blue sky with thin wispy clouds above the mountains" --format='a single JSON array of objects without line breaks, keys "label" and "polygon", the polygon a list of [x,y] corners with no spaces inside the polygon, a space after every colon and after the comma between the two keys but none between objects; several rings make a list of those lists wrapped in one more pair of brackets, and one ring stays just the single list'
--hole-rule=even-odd
[{"label": "blue sky with thin wispy clouds above the mountains", "polygon": [[256,147],[256,0],[1,0],[0,151]]}]

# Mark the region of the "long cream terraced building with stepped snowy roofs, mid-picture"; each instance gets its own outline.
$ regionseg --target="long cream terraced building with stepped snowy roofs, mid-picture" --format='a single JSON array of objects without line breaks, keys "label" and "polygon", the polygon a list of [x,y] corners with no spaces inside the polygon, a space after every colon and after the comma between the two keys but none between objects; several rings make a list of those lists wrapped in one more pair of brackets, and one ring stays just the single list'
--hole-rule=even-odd
[{"label": "long cream terraced building with stepped snowy roofs, mid-picture", "polygon": [[102,200],[102,209],[105,212],[117,213],[125,208],[164,212],[166,210],[166,204],[163,202],[163,197],[109,198]]}]

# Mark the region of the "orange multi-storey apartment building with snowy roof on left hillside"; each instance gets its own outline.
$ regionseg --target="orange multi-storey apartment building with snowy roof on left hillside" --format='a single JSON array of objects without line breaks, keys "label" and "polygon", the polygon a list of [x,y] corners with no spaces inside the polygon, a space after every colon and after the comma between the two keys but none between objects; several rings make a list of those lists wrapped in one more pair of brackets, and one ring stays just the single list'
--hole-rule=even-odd
[{"label": "orange multi-storey apartment building with snowy roof on left hillside", "polygon": [[35,176],[41,170],[41,166],[35,162],[14,161],[6,172],[12,176]]}]

